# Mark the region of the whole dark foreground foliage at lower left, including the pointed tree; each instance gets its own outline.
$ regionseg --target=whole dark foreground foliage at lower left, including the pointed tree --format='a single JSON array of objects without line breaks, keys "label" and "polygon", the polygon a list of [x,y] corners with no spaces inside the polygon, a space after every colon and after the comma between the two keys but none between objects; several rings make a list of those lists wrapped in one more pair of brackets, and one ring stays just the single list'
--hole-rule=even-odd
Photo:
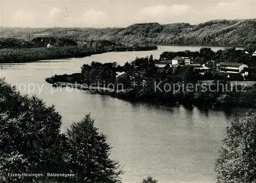
[{"label": "whole dark foreground foliage at lower left, including the pointed tree", "polygon": [[[0,80],[0,182],[118,182],[118,162],[109,158],[106,136],[90,114],[60,133],[61,116],[37,97],[20,95]],[[75,177],[46,177],[46,173]],[[11,177],[8,173],[42,173]]]}]

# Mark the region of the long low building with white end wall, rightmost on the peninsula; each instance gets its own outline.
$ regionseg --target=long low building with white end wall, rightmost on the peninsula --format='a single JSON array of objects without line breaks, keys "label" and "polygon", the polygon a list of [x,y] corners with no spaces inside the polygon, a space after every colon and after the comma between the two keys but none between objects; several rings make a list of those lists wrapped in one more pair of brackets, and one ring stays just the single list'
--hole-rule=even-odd
[{"label": "long low building with white end wall, rightmost on the peninsula", "polygon": [[242,63],[221,63],[218,65],[221,72],[240,73],[247,65]]}]

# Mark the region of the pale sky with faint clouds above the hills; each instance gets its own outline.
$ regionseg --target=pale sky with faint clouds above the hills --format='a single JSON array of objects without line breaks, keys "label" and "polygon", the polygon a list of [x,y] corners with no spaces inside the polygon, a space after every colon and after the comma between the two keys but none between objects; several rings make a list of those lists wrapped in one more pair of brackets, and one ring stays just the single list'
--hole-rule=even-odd
[{"label": "pale sky with faint clouds above the hills", "polygon": [[157,22],[191,25],[256,18],[256,0],[0,0],[3,27],[127,27]]}]

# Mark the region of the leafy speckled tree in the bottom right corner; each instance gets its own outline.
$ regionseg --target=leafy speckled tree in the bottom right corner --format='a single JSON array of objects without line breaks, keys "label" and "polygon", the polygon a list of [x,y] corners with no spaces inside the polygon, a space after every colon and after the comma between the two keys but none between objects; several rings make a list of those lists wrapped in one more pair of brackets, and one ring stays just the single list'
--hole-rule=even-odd
[{"label": "leafy speckled tree in the bottom right corner", "polygon": [[216,160],[217,182],[247,183],[256,180],[256,114],[231,121]]}]

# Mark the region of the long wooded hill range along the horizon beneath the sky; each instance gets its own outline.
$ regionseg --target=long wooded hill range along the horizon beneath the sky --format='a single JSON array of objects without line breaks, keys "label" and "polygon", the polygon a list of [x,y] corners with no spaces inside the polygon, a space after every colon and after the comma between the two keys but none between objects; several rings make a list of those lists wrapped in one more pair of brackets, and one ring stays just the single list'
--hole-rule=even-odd
[{"label": "long wooded hill range along the horizon beneath the sky", "polygon": [[78,42],[110,40],[124,45],[200,45],[246,47],[256,44],[256,19],[215,20],[190,25],[134,24],[126,28],[1,28],[0,37],[28,39],[68,36]]}]

